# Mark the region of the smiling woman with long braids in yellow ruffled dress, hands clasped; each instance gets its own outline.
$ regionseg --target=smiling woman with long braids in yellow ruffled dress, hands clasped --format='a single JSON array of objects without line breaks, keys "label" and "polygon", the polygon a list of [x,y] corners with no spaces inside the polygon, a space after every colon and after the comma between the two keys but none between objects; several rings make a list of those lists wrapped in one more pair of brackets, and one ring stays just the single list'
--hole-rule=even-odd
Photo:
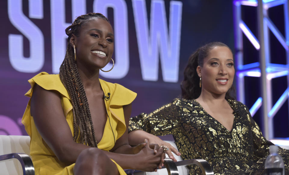
[{"label": "smiling woman with long braids in yellow ruffled dress, hands clasped", "polygon": [[[29,80],[22,123],[36,174],[126,174],[153,171],[163,148],[128,144],[127,125],[136,93],[99,79],[111,60],[113,29],[102,14],[77,17],[65,30],[67,50],[59,74]],[[112,60],[113,61],[113,60]],[[103,71],[103,70],[102,70]],[[151,146],[152,147],[152,146]]]}]

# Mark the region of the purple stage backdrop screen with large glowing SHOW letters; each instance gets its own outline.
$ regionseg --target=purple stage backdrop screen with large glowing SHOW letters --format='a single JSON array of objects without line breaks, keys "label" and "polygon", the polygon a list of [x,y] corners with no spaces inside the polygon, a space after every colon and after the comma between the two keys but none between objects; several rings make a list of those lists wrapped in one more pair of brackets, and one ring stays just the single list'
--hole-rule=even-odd
[{"label": "purple stage backdrop screen with large glowing SHOW letters", "polygon": [[[8,0],[0,2],[0,134],[27,135],[21,124],[30,89],[41,71],[58,74],[64,29],[76,16],[100,12],[115,32],[115,67],[101,78],[138,93],[132,116],[180,95],[187,59],[197,47],[221,41],[234,52],[228,0]],[[104,70],[110,68],[108,65]]]}]

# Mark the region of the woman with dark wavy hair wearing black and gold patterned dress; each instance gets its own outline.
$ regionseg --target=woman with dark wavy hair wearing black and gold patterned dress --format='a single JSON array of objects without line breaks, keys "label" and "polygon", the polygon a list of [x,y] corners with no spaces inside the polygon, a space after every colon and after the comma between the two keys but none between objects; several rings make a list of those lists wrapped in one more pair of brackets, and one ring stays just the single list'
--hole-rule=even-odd
[{"label": "woman with dark wavy hair wearing black and gold patterned dress", "polygon": [[[147,138],[185,160],[205,159],[216,175],[261,175],[273,143],[263,137],[248,107],[230,95],[235,75],[230,48],[220,42],[200,47],[184,75],[182,98],[130,119],[129,143]],[[180,153],[157,137],[166,134],[173,135]],[[278,153],[288,173],[289,150],[280,148]],[[170,151],[167,154],[175,160]],[[201,171],[191,165],[189,174]]]}]

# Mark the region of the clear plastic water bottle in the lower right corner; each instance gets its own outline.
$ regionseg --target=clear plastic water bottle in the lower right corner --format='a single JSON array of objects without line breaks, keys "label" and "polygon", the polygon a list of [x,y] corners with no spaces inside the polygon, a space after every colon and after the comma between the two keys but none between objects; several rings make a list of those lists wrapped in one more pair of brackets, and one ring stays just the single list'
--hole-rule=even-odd
[{"label": "clear plastic water bottle in the lower right corner", "polygon": [[269,152],[270,155],[266,158],[263,175],[284,175],[284,161],[281,156],[278,155],[278,146],[271,145]]}]

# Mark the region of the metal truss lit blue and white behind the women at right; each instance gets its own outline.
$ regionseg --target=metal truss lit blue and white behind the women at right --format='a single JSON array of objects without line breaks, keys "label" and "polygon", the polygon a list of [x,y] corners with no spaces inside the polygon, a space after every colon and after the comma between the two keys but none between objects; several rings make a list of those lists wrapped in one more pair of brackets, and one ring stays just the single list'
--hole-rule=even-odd
[{"label": "metal truss lit blue and white behind the women at right", "polygon": [[[235,65],[237,99],[245,102],[245,82],[244,77],[260,77],[262,95],[250,109],[253,116],[262,107],[263,134],[268,140],[274,139],[273,118],[281,106],[285,103],[289,95],[289,0],[235,0],[234,3],[234,28],[235,28]],[[269,18],[268,9],[283,5],[284,7],[284,27],[285,36],[277,29],[273,21]],[[257,8],[258,38],[251,32],[248,26],[241,19],[242,6],[255,6]],[[270,58],[270,38],[269,32],[278,39],[286,51],[286,65],[273,64]],[[244,65],[243,58],[243,33],[252,43],[256,50],[259,50],[259,62]],[[262,75],[262,76],[261,76]],[[265,75],[265,76],[263,76]],[[287,89],[275,104],[272,104],[272,79],[287,76]],[[289,108],[289,107],[288,107]],[[289,141],[287,141],[289,142]],[[288,144],[288,143],[287,143]]]}]

